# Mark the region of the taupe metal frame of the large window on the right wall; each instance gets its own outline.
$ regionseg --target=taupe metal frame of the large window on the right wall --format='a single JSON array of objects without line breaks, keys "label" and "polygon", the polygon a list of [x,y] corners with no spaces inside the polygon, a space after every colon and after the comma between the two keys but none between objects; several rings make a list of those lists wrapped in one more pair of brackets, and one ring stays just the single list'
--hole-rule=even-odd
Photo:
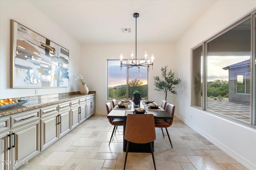
[{"label": "taupe metal frame of the large window on the right wall", "polygon": [[[206,57],[207,56],[206,56],[206,51],[207,51],[207,43],[216,39],[220,35],[228,32],[229,30],[236,27],[240,23],[248,20],[249,18],[251,18],[251,57],[250,57],[251,71],[249,72],[250,73],[250,94],[247,94],[247,95],[251,95],[251,96],[250,96],[250,122],[246,122],[246,121],[242,121],[242,120],[224,115],[222,113],[218,113],[218,112],[211,111],[211,110],[207,109],[207,79],[206,79],[206,75],[207,75]],[[194,56],[193,56],[193,53],[194,53],[194,50],[197,49],[198,47],[200,47],[201,45],[203,47],[203,49],[202,49],[202,54],[203,54],[203,57],[202,57],[203,58],[202,59],[202,67],[203,67],[203,69],[202,69],[202,107],[198,107],[198,106],[193,105],[193,103],[194,103],[194,101],[193,101],[193,98],[194,98],[194,96],[193,96],[193,93],[194,93],[194,91],[193,91],[194,90],[194,80],[193,80],[194,79],[194,74],[193,74]],[[252,12],[250,12],[247,15],[245,15],[244,17],[242,17],[242,19],[234,22],[232,25],[226,27],[225,29],[223,29],[222,31],[217,33],[216,35],[212,36],[211,38],[209,38],[209,39],[199,43],[195,47],[193,47],[191,49],[191,53],[190,53],[191,54],[191,100],[190,100],[190,106],[256,129],[256,47],[255,46],[256,46],[256,10],[253,10]],[[254,64],[254,62],[255,62],[255,64]],[[246,94],[246,91],[243,94]]]}]

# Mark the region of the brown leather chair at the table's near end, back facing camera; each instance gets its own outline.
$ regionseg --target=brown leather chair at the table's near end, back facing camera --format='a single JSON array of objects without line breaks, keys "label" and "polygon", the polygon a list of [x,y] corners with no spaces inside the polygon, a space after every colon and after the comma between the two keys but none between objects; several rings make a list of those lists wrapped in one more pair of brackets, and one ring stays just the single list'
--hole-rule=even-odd
[{"label": "brown leather chair at the table's near end, back facing camera", "polygon": [[154,126],[154,116],[148,115],[132,115],[128,114],[126,118],[126,127],[124,133],[124,139],[126,139],[126,155],[124,161],[124,169],[126,165],[126,159],[129,149],[129,143],[150,143],[151,154],[154,162],[154,168],[156,170],[154,151],[152,143],[156,139],[156,131]]}]

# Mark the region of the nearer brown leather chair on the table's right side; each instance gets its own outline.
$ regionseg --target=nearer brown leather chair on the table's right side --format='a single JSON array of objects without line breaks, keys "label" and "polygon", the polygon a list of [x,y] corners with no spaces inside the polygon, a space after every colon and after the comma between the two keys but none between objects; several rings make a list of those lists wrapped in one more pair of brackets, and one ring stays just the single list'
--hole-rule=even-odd
[{"label": "nearer brown leather chair on the table's right side", "polygon": [[[166,105],[165,111],[167,111],[172,117],[174,117],[174,110],[175,110],[175,105],[170,104],[170,103],[168,103]],[[171,146],[172,146],[172,142],[171,142],[167,127],[170,127],[172,125],[172,121],[173,121],[173,119],[172,120],[168,120],[168,119],[156,119],[155,120],[155,127],[160,127],[162,129],[163,136],[164,136],[163,128],[166,129]]]}]

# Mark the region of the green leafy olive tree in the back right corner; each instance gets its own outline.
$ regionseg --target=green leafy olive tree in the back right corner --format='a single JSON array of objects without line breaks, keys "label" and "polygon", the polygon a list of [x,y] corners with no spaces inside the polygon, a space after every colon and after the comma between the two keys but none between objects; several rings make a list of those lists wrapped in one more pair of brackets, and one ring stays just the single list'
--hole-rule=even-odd
[{"label": "green leafy olive tree in the back right corner", "polygon": [[175,78],[172,70],[169,72],[167,71],[167,67],[168,66],[161,68],[162,78],[164,78],[164,80],[160,80],[159,76],[154,76],[154,85],[156,86],[154,90],[164,91],[165,100],[167,98],[168,91],[170,91],[172,94],[177,94],[174,86],[180,84],[181,82],[180,78]]}]

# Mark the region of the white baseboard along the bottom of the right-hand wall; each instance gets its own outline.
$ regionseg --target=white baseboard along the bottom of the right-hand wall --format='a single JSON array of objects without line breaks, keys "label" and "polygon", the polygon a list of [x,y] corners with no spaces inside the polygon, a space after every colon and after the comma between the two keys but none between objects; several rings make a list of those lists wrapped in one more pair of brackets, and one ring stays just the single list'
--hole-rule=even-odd
[{"label": "white baseboard along the bottom of the right-hand wall", "polygon": [[245,166],[246,168],[248,168],[249,170],[256,170],[256,165],[253,164],[252,162],[250,162],[249,160],[245,159],[244,157],[242,157],[240,154],[234,152],[234,150],[230,149],[229,147],[227,147],[226,145],[223,145],[222,143],[220,143],[219,141],[217,141],[216,139],[214,139],[212,136],[208,135],[207,133],[205,133],[204,131],[202,131],[202,129],[198,129],[198,127],[194,126],[193,124],[191,124],[190,122],[186,121],[185,119],[183,119],[182,117],[180,117],[178,114],[175,115],[176,117],[178,117],[178,119],[180,119],[181,121],[183,121],[186,125],[188,125],[189,127],[191,127],[194,131],[196,131],[197,133],[199,133],[200,135],[202,135],[203,137],[205,137],[208,141],[210,141],[211,143],[213,143],[214,145],[216,145],[218,148],[220,148],[221,150],[223,150],[224,152],[226,152],[226,154],[228,154],[229,156],[231,156],[232,158],[234,158],[236,161],[238,161],[240,164],[242,164],[243,166]]}]

